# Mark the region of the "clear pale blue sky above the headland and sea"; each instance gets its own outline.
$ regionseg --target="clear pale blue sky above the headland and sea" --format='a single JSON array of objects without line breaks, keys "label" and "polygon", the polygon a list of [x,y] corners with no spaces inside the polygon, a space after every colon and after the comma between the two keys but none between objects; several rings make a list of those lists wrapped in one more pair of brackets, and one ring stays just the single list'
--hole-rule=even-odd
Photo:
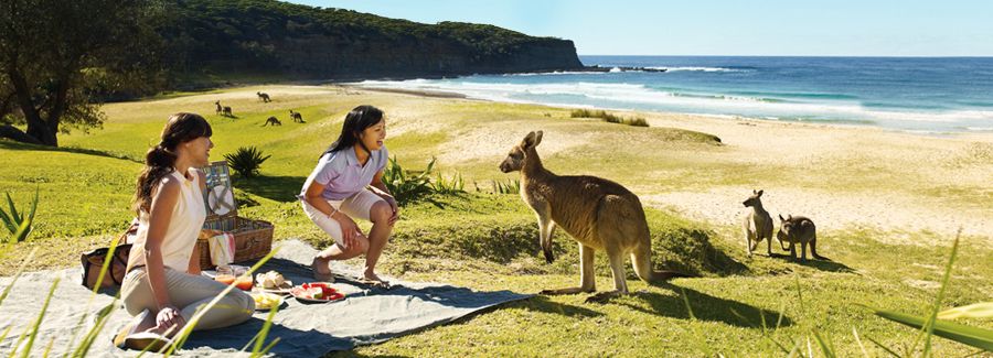
[{"label": "clear pale blue sky above the headland and sea", "polygon": [[993,56],[993,1],[291,0],[572,40],[579,55]]}]

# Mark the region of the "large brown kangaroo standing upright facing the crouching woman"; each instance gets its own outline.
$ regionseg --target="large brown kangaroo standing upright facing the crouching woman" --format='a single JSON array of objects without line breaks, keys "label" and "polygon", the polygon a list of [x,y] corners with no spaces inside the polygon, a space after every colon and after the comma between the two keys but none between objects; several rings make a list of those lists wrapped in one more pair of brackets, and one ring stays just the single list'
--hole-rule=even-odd
[{"label": "large brown kangaroo standing upright facing the crouching woman", "polygon": [[604,302],[628,293],[624,256],[631,257],[634,272],[649,283],[686,276],[652,270],[652,238],[638,196],[605,178],[553,174],[542,165],[535,150],[541,142],[542,131],[527,133],[500,163],[500,171],[521,172],[521,197],[537,216],[546,261],[554,260],[552,232],[556,226],[579,242],[579,286],[545,290],[542,294],[595,292],[594,253],[597,250],[606,252],[610,260],[615,291],[601,292],[588,297],[587,302]]}]

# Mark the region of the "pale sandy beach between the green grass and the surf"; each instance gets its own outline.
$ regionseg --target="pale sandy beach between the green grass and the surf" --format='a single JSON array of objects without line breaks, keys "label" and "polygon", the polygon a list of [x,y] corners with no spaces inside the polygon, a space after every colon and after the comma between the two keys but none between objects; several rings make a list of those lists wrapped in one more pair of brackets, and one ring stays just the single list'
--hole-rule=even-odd
[{"label": "pale sandy beach between the green grass and the surf", "polygon": [[[375,88],[363,90],[376,91]],[[397,96],[396,91],[391,95]],[[419,108],[407,113],[416,117],[416,112],[425,111],[425,106],[433,107],[430,104],[435,99],[427,97],[438,95],[405,91],[401,96],[421,97]],[[700,162],[716,165],[755,167],[761,173],[737,180],[752,183],[750,185],[677,185],[683,188],[675,189],[665,188],[671,185],[639,185],[632,188],[645,205],[674,209],[715,225],[737,225],[746,211],[740,203],[752,189],[761,188],[765,189],[765,207],[773,216],[809,216],[819,228],[826,230],[890,231],[894,235],[879,239],[916,243],[914,232],[928,231],[950,239],[962,228],[967,236],[993,242],[993,133],[919,134],[873,127],[748,118],[618,113],[643,117],[653,128],[715,134],[722,140],[719,151],[688,150],[682,155],[695,155]],[[544,112],[534,115],[541,118]],[[516,132],[500,130],[501,126],[505,123],[460,129],[460,135],[447,143],[450,150],[440,153],[439,159],[473,162],[500,155],[496,152],[502,154],[505,145],[519,139]],[[555,132],[556,129],[552,127],[546,131]],[[542,144],[542,154],[567,156],[579,148],[599,145],[598,135],[595,132],[555,135],[554,141]],[[633,134],[628,139],[643,143],[643,139],[637,137]],[[489,145],[482,148],[481,142],[499,143],[498,150]],[[665,150],[673,151],[671,148]],[[769,170],[761,171],[762,167]],[[705,176],[708,173],[697,174]],[[863,182],[866,185],[859,184]]]}]

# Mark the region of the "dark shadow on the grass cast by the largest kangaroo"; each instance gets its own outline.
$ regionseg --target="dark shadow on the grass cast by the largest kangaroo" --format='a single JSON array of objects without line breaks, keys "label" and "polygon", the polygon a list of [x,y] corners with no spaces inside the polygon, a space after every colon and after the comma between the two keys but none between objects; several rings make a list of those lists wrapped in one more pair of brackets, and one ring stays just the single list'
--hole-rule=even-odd
[{"label": "dark shadow on the grass cast by the largest kangaroo", "polygon": [[696,290],[677,286],[671,283],[664,283],[656,286],[672,290],[675,294],[663,295],[643,291],[634,293],[634,296],[644,300],[651,306],[651,310],[620,302],[618,302],[618,304],[623,304],[632,310],[648,314],[685,319],[690,318],[690,313],[686,311],[686,302],[683,301],[683,294],[685,293],[686,300],[690,301],[690,307],[693,308],[693,315],[700,321],[722,322],[727,325],[745,328],[761,328],[762,319],[765,319],[766,326],[769,328],[776,327],[777,322],[779,322],[779,327],[788,327],[793,324],[793,321],[790,319],[790,317],[782,315],[780,318],[781,313],[775,311],[760,311],[755,306],[741,302],[715,297]]}]

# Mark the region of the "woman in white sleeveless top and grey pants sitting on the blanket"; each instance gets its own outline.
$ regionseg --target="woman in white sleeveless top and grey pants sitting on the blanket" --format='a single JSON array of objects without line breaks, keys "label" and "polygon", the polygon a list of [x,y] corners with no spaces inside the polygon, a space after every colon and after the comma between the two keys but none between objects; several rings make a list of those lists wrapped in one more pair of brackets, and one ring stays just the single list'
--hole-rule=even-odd
[{"label": "woman in white sleeveless top and grey pants sitting on the blanket", "polygon": [[[115,339],[120,347],[159,349],[226,288],[200,275],[200,256],[194,252],[206,218],[205,176],[196,167],[209,164],[214,147],[211,134],[203,117],[175,113],[169,117],[161,142],[145,156],[135,193],[138,236],[120,289],[125,308],[135,319]],[[254,310],[255,301],[234,290],[194,329],[235,325],[248,319]]]}]

